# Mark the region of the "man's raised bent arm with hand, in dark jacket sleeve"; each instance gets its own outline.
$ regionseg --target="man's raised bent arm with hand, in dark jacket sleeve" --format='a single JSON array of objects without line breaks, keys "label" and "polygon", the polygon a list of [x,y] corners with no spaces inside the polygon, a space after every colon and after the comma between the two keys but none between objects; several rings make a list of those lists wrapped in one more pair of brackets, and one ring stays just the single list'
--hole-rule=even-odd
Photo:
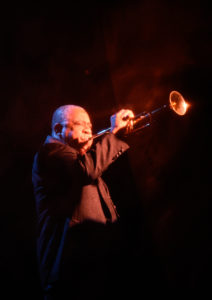
[{"label": "man's raised bent arm with hand, in dark jacket sleeve", "polygon": [[56,154],[58,161],[64,166],[69,175],[80,176],[95,180],[115,161],[129,146],[116,135],[126,127],[128,120],[133,118],[131,110],[122,109],[111,116],[111,133],[106,134],[96,145],[83,155],[76,155],[76,151],[64,145]]}]

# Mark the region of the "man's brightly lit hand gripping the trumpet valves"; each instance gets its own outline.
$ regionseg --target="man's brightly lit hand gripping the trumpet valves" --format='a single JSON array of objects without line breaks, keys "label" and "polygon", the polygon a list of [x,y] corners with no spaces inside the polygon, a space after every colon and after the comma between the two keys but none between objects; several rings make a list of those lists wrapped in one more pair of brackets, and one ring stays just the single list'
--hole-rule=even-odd
[{"label": "man's brightly lit hand gripping the trumpet valves", "polygon": [[111,132],[116,134],[120,129],[126,127],[132,118],[134,118],[132,110],[121,109],[110,117]]}]

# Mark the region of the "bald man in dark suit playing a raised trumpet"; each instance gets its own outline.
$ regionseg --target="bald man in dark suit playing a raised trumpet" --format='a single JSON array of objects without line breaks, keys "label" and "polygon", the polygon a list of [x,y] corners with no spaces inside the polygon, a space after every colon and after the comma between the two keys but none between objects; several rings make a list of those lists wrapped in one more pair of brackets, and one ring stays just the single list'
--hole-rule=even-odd
[{"label": "bald man in dark suit playing a raised trumpet", "polygon": [[82,107],[65,105],[53,114],[52,134],[32,170],[45,299],[99,299],[107,271],[114,275],[118,213],[101,175],[129,148],[118,135],[133,117],[120,110],[111,117],[111,132],[94,144]]}]

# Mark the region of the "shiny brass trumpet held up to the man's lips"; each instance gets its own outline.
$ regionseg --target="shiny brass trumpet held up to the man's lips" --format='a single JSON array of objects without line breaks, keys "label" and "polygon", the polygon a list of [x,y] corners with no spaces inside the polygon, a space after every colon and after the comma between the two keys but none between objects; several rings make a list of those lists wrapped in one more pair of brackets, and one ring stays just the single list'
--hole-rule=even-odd
[{"label": "shiny brass trumpet held up to the man's lips", "polygon": [[[130,133],[135,133],[148,127],[151,125],[152,120],[155,115],[158,115],[160,112],[164,110],[174,111],[177,115],[183,116],[186,114],[188,108],[188,104],[186,103],[184,97],[178,91],[172,91],[169,94],[169,102],[168,104],[164,104],[159,108],[154,109],[151,112],[142,112],[136,115],[134,118],[129,118],[127,126],[125,128],[125,134],[128,135]],[[103,129],[96,134],[94,134],[91,139],[96,139],[103,134],[110,132],[111,127]]]}]

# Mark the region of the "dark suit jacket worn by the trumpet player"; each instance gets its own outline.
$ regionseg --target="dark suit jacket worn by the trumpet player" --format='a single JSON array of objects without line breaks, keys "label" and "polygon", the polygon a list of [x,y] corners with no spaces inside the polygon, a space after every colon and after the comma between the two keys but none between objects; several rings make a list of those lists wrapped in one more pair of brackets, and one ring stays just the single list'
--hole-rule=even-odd
[{"label": "dark suit jacket worn by the trumpet player", "polygon": [[86,222],[104,226],[116,222],[118,214],[101,175],[128,148],[108,133],[80,156],[75,149],[48,136],[36,153],[32,181],[38,215],[38,264],[44,288],[58,279],[61,261],[70,254],[65,248],[72,228]]}]

